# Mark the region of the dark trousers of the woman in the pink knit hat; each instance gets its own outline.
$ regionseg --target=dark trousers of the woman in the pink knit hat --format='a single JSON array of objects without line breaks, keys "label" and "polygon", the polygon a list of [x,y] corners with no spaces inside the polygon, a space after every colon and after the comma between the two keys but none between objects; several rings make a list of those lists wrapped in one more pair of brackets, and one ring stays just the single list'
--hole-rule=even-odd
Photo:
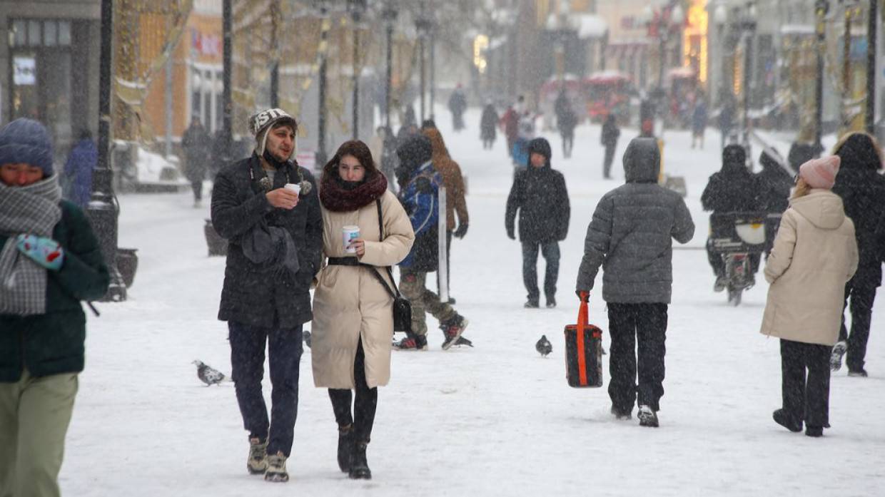
[{"label": "dark trousers of the woman in the pink knit hat", "polygon": [[807,426],[829,424],[830,349],[781,339],[783,410],[794,421],[804,420]]}]

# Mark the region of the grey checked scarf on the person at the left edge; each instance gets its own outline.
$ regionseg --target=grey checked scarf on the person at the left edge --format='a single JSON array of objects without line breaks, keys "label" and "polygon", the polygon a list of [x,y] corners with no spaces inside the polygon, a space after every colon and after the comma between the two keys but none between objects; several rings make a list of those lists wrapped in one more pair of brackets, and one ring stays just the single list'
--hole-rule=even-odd
[{"label": "grey checked scarf on the person at the left edge", "polygon": [[51,237],[61,220],[58,175],[27,187],[0,183],[0,233],[8,236],[0,249],[0,314],[46,313],[46,269],[16,248],[20,233]]}]

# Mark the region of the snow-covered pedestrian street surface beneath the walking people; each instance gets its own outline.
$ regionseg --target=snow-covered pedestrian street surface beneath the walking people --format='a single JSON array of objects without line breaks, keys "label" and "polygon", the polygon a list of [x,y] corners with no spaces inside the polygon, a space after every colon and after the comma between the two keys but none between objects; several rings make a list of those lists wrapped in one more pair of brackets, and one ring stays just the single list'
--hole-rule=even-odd
[{"label": "snow-covered pedestrian street surface beneath the walking people", "polygon": [[[580,126],[571,159],[558,134],[552,165],[565,173],[571,227],[561,243],[558,308],[525,310],[519,243],[504,230],[512,166],[499,134],[479,139],[479,111],[467,129],[437,123],[469,179],[471,222],[452,244],[451,294],[470,319],[475,348],[440,349],[431,319],[426,353],[395,352],[392,379],[379,391],[368,461],[373,479],[353,481],[335,463],[337,430],[327,391],[313,386],[305,349],[291,481],[271,485],[247,474],[247,433],[234,387],[204,386],[191,361],[230,371],[227,324],[216,319],[225,261],[206,256],[204,218],[189,192],[122,195],[119,245],[138,248],[128,301],[89,314],[86,370],[65,447],[62,493],[86,496],[234,497],[262,495],[654,495],[840,497],[885,494],[885,302],[873,310],[869,378],[831,381],[830,423],[821,439],[774,424],[781,405],[778,341],[758,333],[767,285],[740,307],[712,291],[700,195],[720,167],[720,136],[690,149],[688,132],[667,132],[665,172],[684,176],[695,237],[673,251],[661,427],[617,421],[605,388],[566,385],[563,327],[578,308],[574,282],[596,202],[623,181],[625,129],[602,180],[599,126]],[[779,144],[786,156],[786,145]],[[758,155],[758,147],[756,148]],[[208,202],[207,202],[208,204]],[[543,258],[539,261],[543,264]],[[543,274],[543,266],[542,266]],[[590,320],[607,330],[601,277]],[[305,325],[310,329],[310,324]],[[553,353],[542,358],[545,333]],[[608,348],[608,337],[604,335]],[[605,384],[608,384],[605,359]],[[270,383],[266,375],[269,402]],[[634,411],[635,414],[635,411]]]}]

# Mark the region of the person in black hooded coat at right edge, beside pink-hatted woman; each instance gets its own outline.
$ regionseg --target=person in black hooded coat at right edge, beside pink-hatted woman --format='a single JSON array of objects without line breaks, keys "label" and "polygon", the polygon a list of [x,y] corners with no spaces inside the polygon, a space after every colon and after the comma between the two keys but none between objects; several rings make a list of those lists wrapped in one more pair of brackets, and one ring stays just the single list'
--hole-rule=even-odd
[{"label": "person in black hooded coat at right edge, beside pink-hatted woman", "polygon": [[847,352],[845,363],[849,376],[866,377],[866,341],[870,336],[876,288],[881,286],[882,280],[885,178],[880,174],[879,144],[869,134],[845,136],[836,144],[834,153],[842,159],[842,166],[835,177],[833,193],[842,197],[845,214],[854,222],[858,271],[845,285],[845,306],[848,306],[849,299],[851,301],[851,333],[848,333],[843,317],[830,368],[838,371],[842,367],[842,356]]}]

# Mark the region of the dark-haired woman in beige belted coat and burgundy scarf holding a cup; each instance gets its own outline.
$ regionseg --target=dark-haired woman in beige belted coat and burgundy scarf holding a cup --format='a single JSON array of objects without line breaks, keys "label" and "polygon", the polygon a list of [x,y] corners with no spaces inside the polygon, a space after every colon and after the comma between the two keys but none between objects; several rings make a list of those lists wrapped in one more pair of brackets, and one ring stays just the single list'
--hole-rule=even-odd
[{"label": "dark-haired woman in beige belted coat and burgundy scarf holding a cup", "polygon": [[[412,223],[388,191],[362,141],[346,141],[326,164],[319,187],[323,215],[323,252],[328,265],[319,271],[313,294],[313,383],[327,387],[338,423],[338,464],[350,478],[372,478],[366,463],[378,402],[378,386],[390,378],[393,289],[386,266],[412,249]],[[381,203],[383,237],[378,218]],[[344,226],[358,226],[348,247]],[[350,248],[352,252],[349,252]],[[353,414],[351,390],[356,390]]]}]

